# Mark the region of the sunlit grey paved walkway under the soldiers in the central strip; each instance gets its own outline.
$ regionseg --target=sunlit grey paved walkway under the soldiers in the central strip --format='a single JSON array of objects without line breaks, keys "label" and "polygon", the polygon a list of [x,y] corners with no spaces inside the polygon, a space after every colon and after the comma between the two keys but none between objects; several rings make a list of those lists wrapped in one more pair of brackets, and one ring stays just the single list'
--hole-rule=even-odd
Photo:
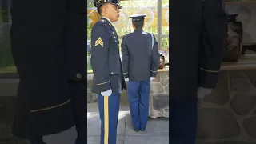
[{"label": "sunlit grey paved walkway under the soldiers in the central strip", "polygon": [[[98,144],[100,119],[97,105],[88,105],[87,143]],[[168,144],[168,118],[150,118],[145,131],[135,132],[131,124],[129,106],[120,106],[117,144]]]}]

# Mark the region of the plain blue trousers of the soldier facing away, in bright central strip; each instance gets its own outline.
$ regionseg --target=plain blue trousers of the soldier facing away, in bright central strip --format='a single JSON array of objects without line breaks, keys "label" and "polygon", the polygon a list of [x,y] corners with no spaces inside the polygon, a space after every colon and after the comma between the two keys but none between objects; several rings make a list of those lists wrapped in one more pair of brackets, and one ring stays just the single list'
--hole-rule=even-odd
[{"label": "plain blue trousers of the soldier facing away, in bright central strip", "polygon": [[130,115],[134,129],[145,130],[149,116],[150,80],[128,82]]}]

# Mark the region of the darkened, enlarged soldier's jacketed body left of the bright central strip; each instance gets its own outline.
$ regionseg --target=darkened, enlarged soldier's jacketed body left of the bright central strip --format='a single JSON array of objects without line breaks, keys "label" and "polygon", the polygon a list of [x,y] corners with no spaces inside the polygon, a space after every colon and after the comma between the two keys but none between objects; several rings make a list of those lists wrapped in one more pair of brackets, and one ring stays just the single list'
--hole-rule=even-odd
[{"label": "darkened, enlarged soldier's jacketed body left of the bright central strip", "polygon": [[12,0],[10,11],[20,80],[12,133],[44,144],[75,125],[76,144],[86,143],[86,1]]}]

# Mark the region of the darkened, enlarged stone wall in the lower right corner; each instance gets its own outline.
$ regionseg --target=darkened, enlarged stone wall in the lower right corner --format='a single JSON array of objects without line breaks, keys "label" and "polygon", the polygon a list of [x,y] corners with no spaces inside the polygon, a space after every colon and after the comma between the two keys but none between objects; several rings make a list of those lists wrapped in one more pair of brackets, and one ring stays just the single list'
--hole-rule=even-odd
[{"label": "darkened, enlarged stone wall in the lower right corner", "polygon": [[199,100],[198,144],[256,143],[255,106],[256,71],[223,71],[216,89]]}]

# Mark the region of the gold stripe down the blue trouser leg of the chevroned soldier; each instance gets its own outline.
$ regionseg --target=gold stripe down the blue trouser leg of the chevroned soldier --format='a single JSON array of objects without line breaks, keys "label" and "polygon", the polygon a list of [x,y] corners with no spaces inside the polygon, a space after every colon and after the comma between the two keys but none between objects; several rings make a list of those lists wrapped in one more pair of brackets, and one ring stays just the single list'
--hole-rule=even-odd
[{"label": "gold stripe down the blue trouser leg of the chevroned soldier", "polygon": [[104,97],[104,144],[109,143],[109,97]]}]

